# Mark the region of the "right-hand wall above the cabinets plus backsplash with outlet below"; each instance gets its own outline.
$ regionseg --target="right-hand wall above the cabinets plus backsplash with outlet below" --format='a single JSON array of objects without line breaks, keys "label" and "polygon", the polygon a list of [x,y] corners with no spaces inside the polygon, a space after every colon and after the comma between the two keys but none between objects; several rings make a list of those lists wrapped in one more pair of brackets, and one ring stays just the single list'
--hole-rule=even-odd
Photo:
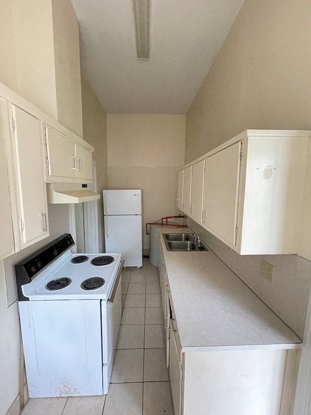
[{"label": "right-hand wall above the cabinets plus backsplash with outlet below", "polygon": [[[185,162],[246,128],[311,128],[310,14],[310,1],[245,1],[187,113]],[[275,267],[271,285],[259,275],[262,256],[238,255],[191,220],[190,227],[303,335],[310,262],[295,255],[263,256]]]}]

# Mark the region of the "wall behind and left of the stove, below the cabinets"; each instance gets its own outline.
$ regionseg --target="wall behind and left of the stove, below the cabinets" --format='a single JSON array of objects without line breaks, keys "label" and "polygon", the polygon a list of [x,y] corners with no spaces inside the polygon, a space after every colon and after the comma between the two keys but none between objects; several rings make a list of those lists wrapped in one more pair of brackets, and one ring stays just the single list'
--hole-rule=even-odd
[{"label": "wall behind and left of the stove, below the cabinets", "polygon": [[[7,410],[19,391],[19,318],[14,265],[70,231],[69,205],[49,205],[50,236],[0,261],[0,414]],[[18,398],[16,402],[19,408]]]}]

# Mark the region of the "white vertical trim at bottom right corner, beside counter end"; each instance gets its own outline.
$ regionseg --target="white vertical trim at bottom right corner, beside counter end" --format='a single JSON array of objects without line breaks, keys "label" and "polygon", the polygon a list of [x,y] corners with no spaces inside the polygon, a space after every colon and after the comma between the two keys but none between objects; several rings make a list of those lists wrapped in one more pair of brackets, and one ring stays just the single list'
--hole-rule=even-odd
[{"label": "white vertical trim at bottom right corner, beside counter end", "polygon": [[311,294],[307,307],[293,414],[311,414]]}]

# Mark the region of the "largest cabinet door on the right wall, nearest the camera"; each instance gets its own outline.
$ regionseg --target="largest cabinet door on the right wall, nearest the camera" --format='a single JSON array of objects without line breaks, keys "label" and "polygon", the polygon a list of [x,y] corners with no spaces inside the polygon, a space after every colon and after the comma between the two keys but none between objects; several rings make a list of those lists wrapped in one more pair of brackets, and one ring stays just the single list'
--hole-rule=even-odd
[{"label": "largest cabinet door on the right wall, nearest the camera", "polygon": [[241,143],[206,159],[203,226],[227,245],[235,245]]}]

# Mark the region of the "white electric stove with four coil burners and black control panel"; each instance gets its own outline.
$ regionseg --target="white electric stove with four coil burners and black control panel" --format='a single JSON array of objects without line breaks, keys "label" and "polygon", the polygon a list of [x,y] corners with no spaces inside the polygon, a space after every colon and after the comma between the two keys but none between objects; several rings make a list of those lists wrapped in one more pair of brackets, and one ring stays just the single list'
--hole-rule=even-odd
[{"label": "white electric stove with four coil burners and black control panel", "polygon": [[15,266],[30,397],[108,392],[121,325],[121,254],[72,254],[66,234]]}]

